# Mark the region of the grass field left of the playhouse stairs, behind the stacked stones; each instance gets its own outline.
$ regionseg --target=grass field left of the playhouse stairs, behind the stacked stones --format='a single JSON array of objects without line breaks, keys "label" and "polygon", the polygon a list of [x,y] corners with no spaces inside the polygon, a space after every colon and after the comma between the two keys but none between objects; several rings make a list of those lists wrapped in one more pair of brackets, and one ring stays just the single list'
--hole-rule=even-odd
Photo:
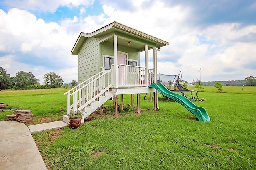
[{"label": "grass field left of the playhouse stairs, behind the stacked stones", "polygon": [[[65,88],[2,90],[0,91],[0,102],[8,104],[6,108],[21,107],[24,110],[32,110],[34,117],[65,115],[66,113],[60,111],[60,107],[66,110],[66,95],[64,95],[64,92],[67,90]],[[10,114],[13,114],[13,111],[0,112],[0,120],[6,120],[4,116]]]}]

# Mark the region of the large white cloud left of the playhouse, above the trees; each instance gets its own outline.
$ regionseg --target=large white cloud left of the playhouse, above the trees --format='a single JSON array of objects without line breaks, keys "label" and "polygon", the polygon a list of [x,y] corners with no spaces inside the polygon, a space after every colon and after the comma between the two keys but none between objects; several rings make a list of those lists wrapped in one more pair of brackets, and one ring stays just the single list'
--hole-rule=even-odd
[{"label": "large white cloud left of the playhouse, above the trees", "polygon": [[[76,20],[74,18],[74,20]],[[0,56],[0,66],[15,76],[21,70],[32,72],[43,82],[46,72],[74,72],[77,57],[70,51],[77,39],[76,34],[68,34],[66,27],[58,23],[45,23],[26,10],[12,8],[6,14],[0,10],[0,49],[12,55]],[[62,74],[64,81],[71,78]],[[77,74],[77,72],[76,72]]]}]

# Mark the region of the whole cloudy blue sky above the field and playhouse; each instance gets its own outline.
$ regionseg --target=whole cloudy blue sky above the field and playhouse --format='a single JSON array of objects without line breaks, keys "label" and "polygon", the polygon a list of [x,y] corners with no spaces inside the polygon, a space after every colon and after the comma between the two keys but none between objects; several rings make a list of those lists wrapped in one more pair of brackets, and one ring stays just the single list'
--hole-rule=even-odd
[{"label": "whole cloudy blue sky above the field and playhouse", "polygon": [[[256,76],[255,0],[0,0],[0,67],[78,81],[80,32],[114,21],[169,42],[158,72],[201,81]],[[152,52],[149,52],[149,55]],[[141,61],[141,66],[143,61]],[[152,55],[149,67],[152,67]]]}]

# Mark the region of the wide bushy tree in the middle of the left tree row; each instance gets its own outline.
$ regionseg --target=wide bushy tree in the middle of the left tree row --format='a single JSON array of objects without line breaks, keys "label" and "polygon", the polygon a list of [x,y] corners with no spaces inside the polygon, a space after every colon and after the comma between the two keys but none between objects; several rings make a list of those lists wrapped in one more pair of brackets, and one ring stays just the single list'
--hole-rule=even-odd
[{"label": "wide bushy tree in the middle of the left tree row", "polygon": [[20,71],[16,74],[16,77],[14,78],[15,86],[17,88],[27,88],[30,85],[34,84],[40,84],[40,80],[36,79],[34,74],[32,72],[24,72]]}]

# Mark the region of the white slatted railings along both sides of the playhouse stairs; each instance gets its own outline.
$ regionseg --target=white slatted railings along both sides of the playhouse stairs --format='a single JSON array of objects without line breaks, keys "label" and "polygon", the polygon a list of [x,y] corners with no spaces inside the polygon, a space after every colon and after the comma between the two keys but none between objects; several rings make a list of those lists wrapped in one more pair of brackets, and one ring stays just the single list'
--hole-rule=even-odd
[{"label": "white slatted railings along both sides of the playhouse stairs", "polygon": [[111,72],[112,69],[107,72],[103,70],[64,93],[67,94],[67,115],[70,113],[70,109],[84,111],[86,106],[111,88]]}]

